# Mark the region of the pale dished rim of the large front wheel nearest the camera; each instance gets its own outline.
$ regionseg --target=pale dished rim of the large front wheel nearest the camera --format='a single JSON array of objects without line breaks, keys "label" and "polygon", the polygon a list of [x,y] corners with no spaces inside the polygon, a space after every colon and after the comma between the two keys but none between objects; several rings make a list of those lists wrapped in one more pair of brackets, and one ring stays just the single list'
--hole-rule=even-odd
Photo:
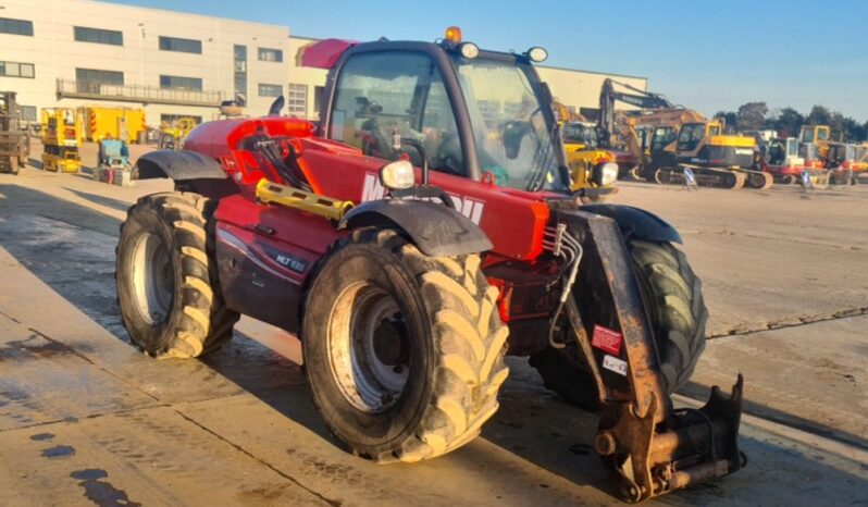
[{"label": "pale dished rim of the large front wheel nearest the camera", "polygon": [[356,282],[337,296],[327,325],[332,375],[347,401],[367,413],[392,408],[410,372],[407,326],[395,299]]}]

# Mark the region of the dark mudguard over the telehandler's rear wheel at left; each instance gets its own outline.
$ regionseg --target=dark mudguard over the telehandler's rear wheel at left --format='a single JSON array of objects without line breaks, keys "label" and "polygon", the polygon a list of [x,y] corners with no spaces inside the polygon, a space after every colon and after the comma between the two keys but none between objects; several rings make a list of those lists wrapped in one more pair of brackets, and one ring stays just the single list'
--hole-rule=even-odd
[{"label": "dark mudguard over the telehandler's rear wheel at left", "polygon": [[226,173],[214,159],[195,151],[159,150],[136,161],[139,180],[169,177],[186,180],[225,180]]}]

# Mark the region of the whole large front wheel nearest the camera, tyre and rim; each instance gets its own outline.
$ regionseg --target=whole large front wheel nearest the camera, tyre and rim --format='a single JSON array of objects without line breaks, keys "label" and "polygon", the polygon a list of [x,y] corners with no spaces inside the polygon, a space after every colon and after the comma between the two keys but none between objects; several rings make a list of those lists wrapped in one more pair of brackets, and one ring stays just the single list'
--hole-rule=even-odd
[{"label": "whole large front wheel nearest the camera, tyre and rim", "polygon": [[508,330],[480,257],[427,257],[392,230],[342,239],[308,290],[313,398],[332,432],[376,462],[456,449],[497,410]]}]

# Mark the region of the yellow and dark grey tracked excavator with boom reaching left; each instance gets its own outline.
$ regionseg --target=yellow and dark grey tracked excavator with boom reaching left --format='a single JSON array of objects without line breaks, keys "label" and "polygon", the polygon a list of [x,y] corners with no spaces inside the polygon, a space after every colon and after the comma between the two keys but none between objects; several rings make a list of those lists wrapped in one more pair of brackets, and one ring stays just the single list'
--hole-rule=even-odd
[{"label": "yellow and dark grey tracked excavator with boom reaching left", "polygon": [[[615,85],[630,92],[616,90]],[[616,102],[640,110],[616,111]],[[674,106],[662,95],[606,79],[599,107],[603,141],[625,146],[640,156],[643,164],[637,175],[647,181],[681,183],[690,169],[700,186],[765,189],[773,184],[770,174],[754,169],[756,141],[752,137],[724,135],[722,122]]]}]

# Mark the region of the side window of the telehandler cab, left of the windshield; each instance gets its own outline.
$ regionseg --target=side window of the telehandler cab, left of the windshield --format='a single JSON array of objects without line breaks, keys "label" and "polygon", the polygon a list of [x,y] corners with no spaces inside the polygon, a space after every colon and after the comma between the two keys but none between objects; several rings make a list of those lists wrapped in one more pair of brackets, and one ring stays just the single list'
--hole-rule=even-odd
[{"label": "side window of the telehandler cab, left of the windshield", "polygon": [[[396,134],[424,146],[431,170],[464,174],[455,114],[431,58],[404,51],[350,58],[338,76],[330,137],[394,160]],[[417,149],[404,150],[421,165]]]}]

